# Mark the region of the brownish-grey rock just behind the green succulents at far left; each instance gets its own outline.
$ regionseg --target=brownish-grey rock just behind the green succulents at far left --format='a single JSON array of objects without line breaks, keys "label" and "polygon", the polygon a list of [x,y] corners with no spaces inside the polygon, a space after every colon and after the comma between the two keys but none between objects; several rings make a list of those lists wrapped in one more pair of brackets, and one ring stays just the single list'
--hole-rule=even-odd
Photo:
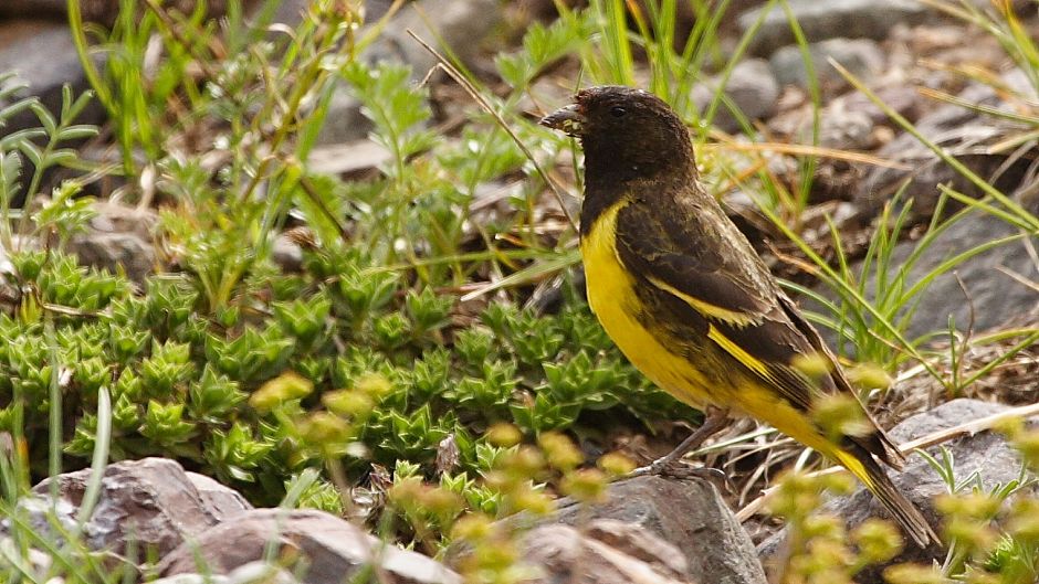
[{"label": "brownish-grey rock just behind the green succulents at far left", "polygon": [[97,216],[91,220],[90,231],[73,236],[69,251],[80,264],[125,273],[141,284],[155,272],[156,252],[151,245],[151,229],[158,217],[147,209],[124,206],[113,202],[94,204]]}]

